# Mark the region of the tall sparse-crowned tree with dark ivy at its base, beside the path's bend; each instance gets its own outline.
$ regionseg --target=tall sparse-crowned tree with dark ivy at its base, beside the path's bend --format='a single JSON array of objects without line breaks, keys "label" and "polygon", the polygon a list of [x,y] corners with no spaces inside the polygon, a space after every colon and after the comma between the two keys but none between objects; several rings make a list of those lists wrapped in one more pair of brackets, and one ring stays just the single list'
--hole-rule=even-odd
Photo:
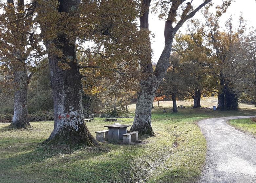
[{"label": "tall sparse-crowned tree with dark ivy at its base, beside the path's bend", "polygon": [[[244,32],[243,18],[239,19],[239,26],[234,30],[232,26],[232,18],[228,19],[225,24],[226,31],[221,31],[219,26],[220,16],[209,13],[208,11],[204,12],[204,17],[206,19],[205,25],[202,28],[202,35],[209,45],[215,50],[216,64],[215,71],[216,75],[219,78],[219,87],[218,87],[218,108],[220,110],[230,109],[226,106],[225,101],[228,97],[235,97],[234,95],[229,95],[230,91],[228,89],[229,81],[226,80],[224,74],[224,68],[227,60],[229,59],[228,55],[233,49],[233,45],[239,40],[239,37]],[[226,94],[225,92],[229,92]],[[228,100],[236,100],[235,98],[230,98]]]}]

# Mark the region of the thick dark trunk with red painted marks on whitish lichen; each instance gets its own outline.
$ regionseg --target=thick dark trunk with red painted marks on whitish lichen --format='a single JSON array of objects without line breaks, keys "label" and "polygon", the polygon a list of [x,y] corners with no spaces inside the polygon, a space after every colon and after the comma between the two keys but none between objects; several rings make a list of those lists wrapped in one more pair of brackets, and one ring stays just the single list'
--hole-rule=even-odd
[{"label": "thick dark trunk with red painted marks on whitish lichen", "polygon": [[[59,1],[59,13],[75,12],[79,1]],[[75,16],[78,16],[75,15]],[[76,27],[73,27],[74,31]],[[42,29],[43,30],[43,29]],[[59,34],[57,39],[52,40],[56,49],[61,50],[64,57],[59,57],[50,49],[47,43],[48,58],[50,65],[51,87],[53,90],[54,103],[54,129],[45,143],[53,145],[85,144],[98,145],[98,142],[89,132],[82,108],[82,84],[79,67],[76,59],[75,38],[69,39],[65,34]],[[67,61],[69,58],[69,61]],[[72,58],[72,61],[70,59]],[[69,69],[59,67],[58,63],[66,63]]]}]

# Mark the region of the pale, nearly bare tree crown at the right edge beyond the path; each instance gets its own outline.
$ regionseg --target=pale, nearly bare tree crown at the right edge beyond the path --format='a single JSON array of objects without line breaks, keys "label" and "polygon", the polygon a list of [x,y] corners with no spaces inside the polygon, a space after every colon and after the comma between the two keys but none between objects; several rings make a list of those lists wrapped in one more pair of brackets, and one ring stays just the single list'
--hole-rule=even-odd
[{"label": "pale, nearly bare tree crown at the right edge beyond the path", "polygon": [[[256,31],[251,30],[233,45],[224,68],[232,94],[256,103]],[[232,104],[231,104],[232,105]],[[232,105],[234,106],[234,105]]]}]

